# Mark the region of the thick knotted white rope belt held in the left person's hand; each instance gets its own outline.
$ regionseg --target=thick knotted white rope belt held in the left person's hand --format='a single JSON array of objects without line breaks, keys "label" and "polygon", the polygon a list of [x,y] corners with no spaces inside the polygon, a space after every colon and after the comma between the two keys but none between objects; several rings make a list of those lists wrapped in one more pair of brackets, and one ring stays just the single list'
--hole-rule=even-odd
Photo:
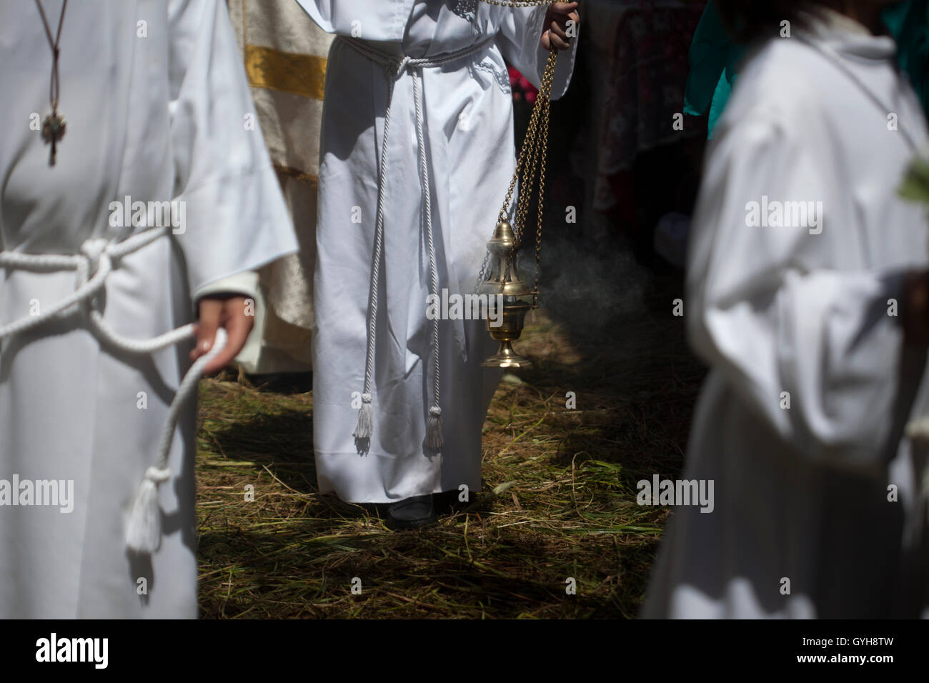
[{"label": "thick knotted white rope belt held in the left person's hand", "polygon": [[[34,327],[58,318],[73,306],[80,306],[86,313],[90,330],[112,346],[129,353],[153,353],[170,347],[194,334],[193,324],[183,325],[164,335],[151,339],[133,339],[115,332],[104,320],[91,301],[106,283],[107,276],[119,259],[154,242],[159,237],[167,236],[167,228],[150,228],[139,232],[122,242],[103,239],[90,239],[81,245],[80,254],[22,254],[20,252],[0,251],[0,268],[33,270],[36,272],[74,270],[77,283],[72,294],[65,296],[54,306],[43,310],[39,315],[25,316],[19,320],[0,326],[0,340],[32,330]],[[177,428],[181,409],[196,391],[197,382],[203,374],[203,367],[212,361],[226,346],[226,331],[216,331],[213,348],[190,366],[177,387],[177,394],[168,407],[168,417],[158,443],[158,461],[145,472],[145,479],[139,486],[126,528],[126,545],[137,553],[153,553],[161,545],[161,510],[158,507],[158,484],[170,479],[168,456],[171,453],[171,441]]]}]

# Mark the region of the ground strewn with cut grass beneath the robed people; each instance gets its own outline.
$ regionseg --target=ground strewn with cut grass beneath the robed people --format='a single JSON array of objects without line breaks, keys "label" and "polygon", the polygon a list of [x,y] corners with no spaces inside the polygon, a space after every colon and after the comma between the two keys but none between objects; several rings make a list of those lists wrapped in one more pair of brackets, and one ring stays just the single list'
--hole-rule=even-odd
[{"label": "ground strewn with cut grass beneath the robed people", "polygon": [[310,393],[204,380],[203,616],[635,617],[668,514],[637,506],[635,482],[679,473],[703,371],[673,276],[629,304],[610,269],[587,274],[617,296],[592,308],[559,287],[534,314],[518,348],[536,364],[500,385],[484,426],[483,490],[431,529],[390,532],[317,492]]}]

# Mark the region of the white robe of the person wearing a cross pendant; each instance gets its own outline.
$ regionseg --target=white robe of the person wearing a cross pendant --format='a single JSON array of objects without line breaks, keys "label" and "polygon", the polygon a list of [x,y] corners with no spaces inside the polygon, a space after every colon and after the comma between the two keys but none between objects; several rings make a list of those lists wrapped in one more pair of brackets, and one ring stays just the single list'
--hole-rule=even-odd
[{"label": "white robe of the person wearing a cross pendant", "polygon": [[[43,4],[54,31],[61,2]],[[294,251],[261,132],[246,125],[252,99],[225,3],[71,3],[60,45],[68,128],[49,167],[28,125],[49,107],[46,33],[33,3],[0,4],[0,248],[76,254],[88,238],[144,230],[111,228],[111,201],[186,202],[184,233],[122,259],[98,301],[137,338],[190,322],[202,286]],[[73,272],[0,270],[0,323],[74,289]],[[70,513],[0,506],[0,616],[196,616],[193,403],[159,487],[160,550],[130,556],[124,535],[190,348],[127,355],[75,309],[3,342],[0,479],[71,479],[74,500]]]}]

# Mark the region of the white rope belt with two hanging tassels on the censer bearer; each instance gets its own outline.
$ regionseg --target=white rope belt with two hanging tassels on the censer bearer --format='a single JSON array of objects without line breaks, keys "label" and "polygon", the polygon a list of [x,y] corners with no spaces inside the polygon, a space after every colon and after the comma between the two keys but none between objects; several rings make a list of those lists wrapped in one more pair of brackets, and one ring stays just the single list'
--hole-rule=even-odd
[{"label": "white rope belt with two hanging tassels on the censer bearer", "polygon": [[[432,193],[429,187],[429,170],[426,157],[425,135],[423,132],[423,102],[420,87],[423,80],[423,69],[437,67],[457,59],[464,59],[482,51],[493,38],[488,38],[473,46],[464,47],[455,52],[448,52],[436,57],[396,58],[379,50],[373,49],[363,41],[349,38],[344,35],[336,36],[352,49],[381,64],[385,68],[387,79],[387,102],[384,110],[384,134],[381,140],[381,164],[377,176],[377,216],[374,221],[374,250],[371,267],[371,299],[368,306],[368,348],[364,367],[364,390],[361,392],[361,408],[358,415],[358,425],[355,427],[354,437],[359,440],[370,439],[373,431],[373,414],[371,406],[371,383],[374,369],[374,342],[377,331],[377,282],[381,272],[381,259],[384,256],[384,202],[385,183],[387,173],[387,138],[390,130],[390,106],[394,97],[394,84],[404,74],[412,76],[413,101],[416,107],[416,144],[419,151],[420,183],[423,187],[423,205],[425,218],[425,238],[429,252],[429,290],[433,296],[438,296],[438,270],[436,265],[436,247],[432,230]],[[438,374],[438,316],[432,322],[432,366],[433,387],[432,406],[429,408],[429,417],[426,420],[425,446],[439,451],[442,448],[442,409],[439,407],[439,374]]]}]

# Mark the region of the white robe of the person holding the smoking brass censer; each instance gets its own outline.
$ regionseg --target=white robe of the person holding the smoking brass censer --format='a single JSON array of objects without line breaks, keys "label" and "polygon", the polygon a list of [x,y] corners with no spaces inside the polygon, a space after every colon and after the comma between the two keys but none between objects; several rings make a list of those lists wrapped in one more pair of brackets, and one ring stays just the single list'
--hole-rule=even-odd
[{"label": "white robe of the person holding the smoking brass censer", "polygon": [[[546,7],[413,0],[300,0],[328,32],[391,55],[435,57],[491,43],[477,55],[423,69],[423,106],[438,290],[471,293],[515,166],[513,105],[504,58],[538,85]],[[360,33],[359,33],[360,32]],[[553,98],[568,87],[574,46],[559,54]],[[314,279],[313,445],[322,492],[352,502],[480,487],[481,427],[499,371],[484,321],[441,321],[440,454],[424,446],[432,401],[429,266],[417,165],[412,75],[394,86],[387,150],[384,263],[374,372],[373,436],[353,432],[364,385],[385,69],[334,41],[326,74]],[[360,222],[353,222],[360,211]],[[355,404],[353,405],[353,393]]]}]

